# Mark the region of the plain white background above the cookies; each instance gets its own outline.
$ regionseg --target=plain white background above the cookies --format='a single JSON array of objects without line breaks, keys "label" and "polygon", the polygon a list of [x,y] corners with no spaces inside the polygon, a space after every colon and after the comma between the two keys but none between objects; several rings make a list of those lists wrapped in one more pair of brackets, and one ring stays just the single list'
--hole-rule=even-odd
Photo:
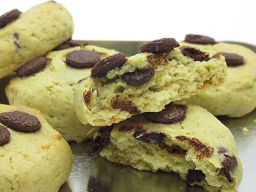
[{"label": "plain white background above the cookies", "polygon": [[[182,40],[195,33],[256,45],[255,0],[56,1],[73,15],[76,40]],[[42,2],[3,1],[0,13],[14,8],[24,12]]]}]

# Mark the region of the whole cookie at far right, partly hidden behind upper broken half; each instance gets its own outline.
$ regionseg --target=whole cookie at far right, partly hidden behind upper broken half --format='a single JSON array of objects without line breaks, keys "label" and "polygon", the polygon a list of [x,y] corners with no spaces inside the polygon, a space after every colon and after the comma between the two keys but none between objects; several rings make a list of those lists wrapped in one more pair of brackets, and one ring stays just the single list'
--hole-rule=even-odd
[{"label": "whole cookie at far right, partly hidden behind upper broken half", "polygon": [[214,115],[242,117],[256,107],[256,54],[237,44],[219,42],[198,45],[180,42],[181,46],[197,48],[210,57],[223,55],[227,63],[227,79],[217,88],[206,90],[181,103],[200,105]]}]

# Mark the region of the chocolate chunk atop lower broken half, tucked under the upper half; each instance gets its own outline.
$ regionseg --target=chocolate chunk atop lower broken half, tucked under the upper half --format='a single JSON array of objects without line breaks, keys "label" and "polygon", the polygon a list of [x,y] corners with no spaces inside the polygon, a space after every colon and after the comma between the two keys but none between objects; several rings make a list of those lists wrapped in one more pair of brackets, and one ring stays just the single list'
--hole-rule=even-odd
[{"label": "chocolate chunk atop lower broken half, tucked under the upper half", "polygon": [[186,117],[186,106],[170,103],[165,109],[157,113],[144,113],[147,120],[154,123],[173,124],[181,122]]}]

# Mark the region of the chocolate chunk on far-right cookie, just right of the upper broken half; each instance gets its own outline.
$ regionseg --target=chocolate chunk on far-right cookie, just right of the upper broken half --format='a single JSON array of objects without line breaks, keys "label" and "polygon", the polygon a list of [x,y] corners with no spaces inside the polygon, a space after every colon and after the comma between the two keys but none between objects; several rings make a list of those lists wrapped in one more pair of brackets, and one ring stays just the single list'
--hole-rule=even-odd
[{"label": "chocolate chunk on far-right cookie, just right of the upper broken half", "polygon": [[234,53],[216,53],[212,57],[218,57],[220,55],[223,55],[225,57],[225,61],[227,63],[227,66],[229,67],[237,67],[242,66],[244,64],[244,58],[238,54]]}]

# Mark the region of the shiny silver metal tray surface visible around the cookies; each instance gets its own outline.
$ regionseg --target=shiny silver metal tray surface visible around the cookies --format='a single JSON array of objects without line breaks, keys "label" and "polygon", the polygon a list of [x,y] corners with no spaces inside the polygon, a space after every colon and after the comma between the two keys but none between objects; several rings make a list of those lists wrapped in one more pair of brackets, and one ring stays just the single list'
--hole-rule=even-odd
[{"label": "shiny silver metal tray surface visible around the cookies", "polygon": [[[126,55],[138,53],[139,41],[81,41],[91,45],[116,49]],[[241,43],[240,43],[241,44]],[[256,52],[256,47],[242,44]],[[256,64],[256,63],[255,63]],[[0,101],[7,103],[4,88],[10,77],[0,81]],[[242,118],[219,119],[231,130],[238,143],[239,156],[243,163],[244,176],[239,192],[256,191],[256,110]],[[245,133],[243,127],[250,131]],[[191,192],[204,191],[191,187],[177,174],[141,172],[131,167],[108,162],[101,157],[95,159],[85,153],[88,142],[70,143],[74,153],[74,165],[68,181],[59,192]]]}]

